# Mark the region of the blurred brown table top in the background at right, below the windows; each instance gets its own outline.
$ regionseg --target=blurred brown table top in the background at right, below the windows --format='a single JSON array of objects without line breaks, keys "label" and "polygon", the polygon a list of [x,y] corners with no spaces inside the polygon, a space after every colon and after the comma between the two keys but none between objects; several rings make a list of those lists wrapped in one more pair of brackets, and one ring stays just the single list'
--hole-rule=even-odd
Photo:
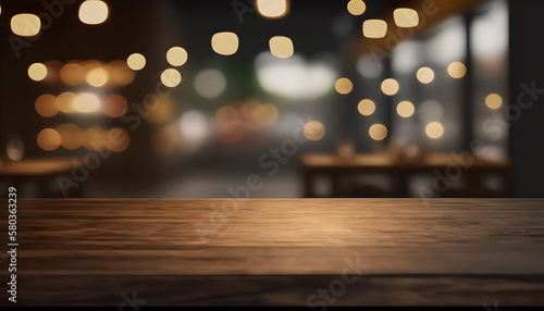
[{"label": "blurred brown table top in the background at right, below the windows", "polygon": [[[390,153],[357,153],[349,159],[341,159],[334,153],[308,153],[302,154],[301,163],[310,169],[336,169],[336,167],[446,167],[450,164],[463,165],[466,159],[459,156],[454,158],[450,153],[432,153],[424,160],[406,159],[397,161]],[[498,167],[508,169],[511,165],[510,160],[498,160],[487,158],[471,158],[472,167]]]}]

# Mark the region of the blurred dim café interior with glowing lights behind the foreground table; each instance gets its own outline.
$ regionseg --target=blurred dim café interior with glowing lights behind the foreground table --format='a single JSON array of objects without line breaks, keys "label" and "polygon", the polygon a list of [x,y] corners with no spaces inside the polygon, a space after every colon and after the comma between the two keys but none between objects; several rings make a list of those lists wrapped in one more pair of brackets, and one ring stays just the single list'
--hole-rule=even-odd
[{"label": "blurred dim caf\u00e9 interior with glowing lights behind the foreground table", "polygon": [[0,8],[1,192],[544,194],[542,1]]}]

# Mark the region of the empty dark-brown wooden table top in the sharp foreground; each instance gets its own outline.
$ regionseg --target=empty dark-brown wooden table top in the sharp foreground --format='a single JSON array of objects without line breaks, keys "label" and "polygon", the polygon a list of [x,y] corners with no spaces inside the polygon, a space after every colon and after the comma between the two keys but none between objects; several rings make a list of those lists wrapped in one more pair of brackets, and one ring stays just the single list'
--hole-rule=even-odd
[{"label": "empty dark-brown wooden table top in the sharp foreground", "polygon": [[540,199],[17,203],[18,306],[544,303]]}]

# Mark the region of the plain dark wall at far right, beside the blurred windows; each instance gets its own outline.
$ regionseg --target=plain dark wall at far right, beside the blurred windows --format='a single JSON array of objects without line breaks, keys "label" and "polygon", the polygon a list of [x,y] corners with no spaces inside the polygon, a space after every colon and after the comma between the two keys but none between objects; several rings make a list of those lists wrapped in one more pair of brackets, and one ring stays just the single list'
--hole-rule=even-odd
[{"label": "plain dark wall at far right, beside the blurred windows", "polygon": [[[544,1],[510,0],[509,4],[510,152],[517,196],[544,197]],[[542,94],[531,98],[526,89],[532,86]],[[521,94],[527,95],[519,101]]]}]

